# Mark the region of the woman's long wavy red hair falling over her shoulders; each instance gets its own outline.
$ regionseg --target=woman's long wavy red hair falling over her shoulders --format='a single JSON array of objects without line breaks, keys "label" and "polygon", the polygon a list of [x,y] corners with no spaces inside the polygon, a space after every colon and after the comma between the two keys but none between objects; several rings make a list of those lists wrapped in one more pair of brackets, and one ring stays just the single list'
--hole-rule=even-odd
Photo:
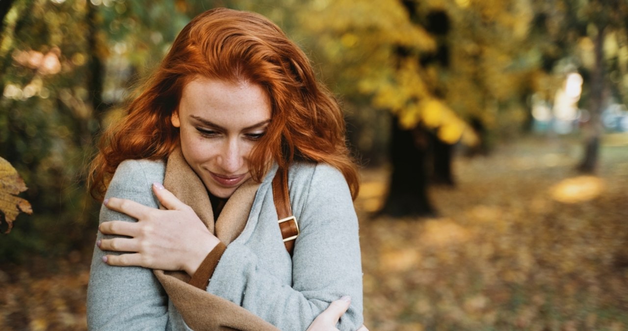
[{"label": "woman's long wavy red hair falling over her shoulders", "polygon": [[185,84],[195,77],[261,85],[271,99],[271,123],[251,152],[260,182],[269,156],[279,166],[323,162],[342,172],[355,199],[357,168],[345,141],[337,100],[319,84],[310,61],[281,29],[256,13],[217,8],[188,23],[160,67],[127,106],[127,114],[100,138],[90,166],[90,192],[102,199],[117,166],[128,159],[165,160],[179,144],[170,121]]}]

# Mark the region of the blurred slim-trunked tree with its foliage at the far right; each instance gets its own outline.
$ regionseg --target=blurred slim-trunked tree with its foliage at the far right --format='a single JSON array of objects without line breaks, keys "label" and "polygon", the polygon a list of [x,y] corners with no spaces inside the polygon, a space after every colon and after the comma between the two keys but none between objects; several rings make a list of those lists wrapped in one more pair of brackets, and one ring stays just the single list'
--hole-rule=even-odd
[{"label": "blurred slim-trunked tree with its foliage at the far right", "polygon": [[[624,99],[627,84],[626,43],[628,3],[621,0],[551,0],[533,2],[535,28],[541,38],[539,50],[543,69],[566,73],[577,68],[585,80],[581,103],[587,110],[583,121],[584,153],[578,168],[594,172],[598,166],[598,149],[603,133],[601,114],[608,106],[611,90]],[[610,70],[609,70],[610,69]],[[615,78],[613,78],[615,76]],[[623,86],[622,86],[623,85]],[[619,87],[619,88],[617,88]]]}]

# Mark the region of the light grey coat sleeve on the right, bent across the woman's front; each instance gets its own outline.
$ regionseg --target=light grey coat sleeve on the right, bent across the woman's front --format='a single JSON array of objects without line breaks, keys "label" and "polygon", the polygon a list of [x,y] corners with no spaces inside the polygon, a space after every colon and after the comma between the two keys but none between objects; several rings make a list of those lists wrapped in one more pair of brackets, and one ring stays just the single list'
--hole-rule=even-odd
[{"label": "light grey coat sleeve on the right, bent across the woman's front", "polygon": [[256,252],[235,241],[227,246],[207,290],[281,330],[305,330],[331,301],[350,295],[351,307],[337,327],[357,330],[363,323],[362,268],[347,182],[335,168],[317,165],[311,182],[299,189],[306,197],[300,206],[293,205],[301,233],[292,258],[292,286],[261,268]]}]

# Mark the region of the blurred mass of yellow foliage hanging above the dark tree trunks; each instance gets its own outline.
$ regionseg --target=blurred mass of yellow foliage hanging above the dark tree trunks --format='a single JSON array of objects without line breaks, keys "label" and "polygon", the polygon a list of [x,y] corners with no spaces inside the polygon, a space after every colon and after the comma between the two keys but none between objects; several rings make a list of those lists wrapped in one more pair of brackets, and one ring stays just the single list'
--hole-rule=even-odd
[{"label": "blurred mass of yellow foliage hanging above the dark tree trunks", "polygon": [[[317,36],[316,48],[329,64],[323,70],[342,84],[344,95],[372,97],[371,106],[391,111],[404,128],[421,123],[448,143],[475,144],[479,138],[466,118],[480,119],[492,129],[497,105],[507,104],[504,101],[529,84],[547,84],[531,79],[535,73],[526,63],[534,62],[534,56],[521,56],[534,17],[530,4],[499,0],[452,4],[425,0],[421,6],[423,14],[442,10],[452,20],[447,39],[450,67],[455,70],[419,63],[421,54],[435,50],[436,39],[410,19],[399,1],[319,0],[303,5],[308,10],[301,11],[300,23],[307,35]],[[408,50],[408,56],[396,53],[399,46]]]}]

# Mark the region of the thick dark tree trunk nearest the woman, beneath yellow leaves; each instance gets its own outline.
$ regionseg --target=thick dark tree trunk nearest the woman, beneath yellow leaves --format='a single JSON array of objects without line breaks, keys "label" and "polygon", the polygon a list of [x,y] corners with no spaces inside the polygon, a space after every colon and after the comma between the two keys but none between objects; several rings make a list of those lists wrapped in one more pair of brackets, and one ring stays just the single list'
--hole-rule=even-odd
[{"label": "thick dark tree trunk nearest the woman, beneath yellow leaves", "polygon": [[391,119],[390,160],[393,167],[382,214],[393,217],[429,216],[434,209],[427,196],[428,139],[421,128],[404,130]]}]

